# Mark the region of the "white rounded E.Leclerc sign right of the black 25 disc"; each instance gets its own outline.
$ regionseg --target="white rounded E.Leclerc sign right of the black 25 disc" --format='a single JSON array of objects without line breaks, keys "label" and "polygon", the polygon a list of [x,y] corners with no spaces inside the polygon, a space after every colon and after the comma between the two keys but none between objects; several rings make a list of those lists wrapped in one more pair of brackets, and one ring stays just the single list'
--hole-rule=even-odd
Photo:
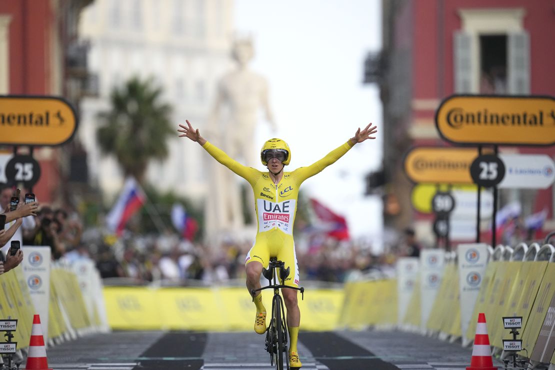
[{"label": "white rounded E.Leclerc sign right of the black 25 disc", "polygon": [[499,154],[505,176],[499,189],[547,189],[555,180],[555,164],[545,154]]}]

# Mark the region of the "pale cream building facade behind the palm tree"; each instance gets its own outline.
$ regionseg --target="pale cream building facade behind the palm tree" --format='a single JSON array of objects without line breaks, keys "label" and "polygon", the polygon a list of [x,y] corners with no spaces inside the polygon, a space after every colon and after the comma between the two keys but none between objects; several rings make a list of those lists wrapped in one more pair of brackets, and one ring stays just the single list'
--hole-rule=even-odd
[{"label": "pale cream building facade behind the palm tree", "polygon": [[[189,119],[203,129],[216,81],[230,67],[232,9],[232,0],[97,0],[85,9],[79,31],[99,94],[83,101],[79,138],[90,181],[105,199],[123,185],[122,171],[96,141],[98,113],[110,109],[112,89],[132,77],[152,78],[173,106],[175,127]],[[206,175],[198,148],[177,136],[168,142],[168,158],[149,165],[147,181],[160,191],[202,199]]]}]

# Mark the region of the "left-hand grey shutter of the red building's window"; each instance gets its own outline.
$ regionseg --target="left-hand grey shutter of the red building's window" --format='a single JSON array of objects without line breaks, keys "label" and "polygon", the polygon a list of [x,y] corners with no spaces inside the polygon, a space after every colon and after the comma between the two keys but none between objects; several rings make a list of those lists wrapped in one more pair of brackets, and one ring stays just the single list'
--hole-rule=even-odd
[{"label": "left-hand grey shutter of the red building's window", "polygon": [[470,34],[462,31],[455,31],[453,35],[453,62],[455,63],[455,93],[472,92],[472,64],[471,64],[471,43]]}]

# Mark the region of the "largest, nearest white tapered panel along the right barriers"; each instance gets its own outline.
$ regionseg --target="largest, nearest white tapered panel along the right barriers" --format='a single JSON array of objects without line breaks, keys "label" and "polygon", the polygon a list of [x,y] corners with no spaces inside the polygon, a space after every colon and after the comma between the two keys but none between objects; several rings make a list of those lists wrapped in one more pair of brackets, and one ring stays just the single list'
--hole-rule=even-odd
[{"label": "largest, nearest white tapered panel along the right barriers", "polygon": [[458,261],[458,291],[460,293],[461,305],[461,332],[463,344],[469,343],[473,338],[466,338],[466,331],[474,305],[480,292],[482,279],[486,273],[488,259],[487,245],[480,244],[459,244],[457,246]]}]

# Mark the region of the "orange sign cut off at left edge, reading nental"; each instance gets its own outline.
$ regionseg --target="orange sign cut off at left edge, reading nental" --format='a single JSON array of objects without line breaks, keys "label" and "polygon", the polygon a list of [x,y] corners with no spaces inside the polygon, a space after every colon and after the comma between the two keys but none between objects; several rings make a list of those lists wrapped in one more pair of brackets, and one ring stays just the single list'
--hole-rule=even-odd
[{"label": "orange sign cut off at left edge, reading nental", "polygon": [[62,145],[76,128],[75,110],[63,98],[0,96],[0,144]]}]

